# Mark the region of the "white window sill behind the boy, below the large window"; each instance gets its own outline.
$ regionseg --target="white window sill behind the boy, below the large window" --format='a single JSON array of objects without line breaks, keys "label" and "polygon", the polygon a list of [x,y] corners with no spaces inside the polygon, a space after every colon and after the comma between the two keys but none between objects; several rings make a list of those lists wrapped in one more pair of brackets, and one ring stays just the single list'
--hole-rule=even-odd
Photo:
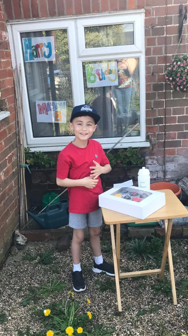
[{"label": "white window sill behind the boy, below the large window", "polygon": [[[104,143],[102,144],[102,148],[103,149],[110,149],[115,143]],[[60,152],[62,151],[62,149],[64,149],[66,146],[34,146],[34,147],[30,147],[31,152]],[[115,148],[128,148],[128,147],[140,147],[140,148],[144,148],[144,147],[150,147],[150,142],[148,141],[142,141],[142,142],[124,142],[124,143],[118,143],[117,146],[115,146]]]}]

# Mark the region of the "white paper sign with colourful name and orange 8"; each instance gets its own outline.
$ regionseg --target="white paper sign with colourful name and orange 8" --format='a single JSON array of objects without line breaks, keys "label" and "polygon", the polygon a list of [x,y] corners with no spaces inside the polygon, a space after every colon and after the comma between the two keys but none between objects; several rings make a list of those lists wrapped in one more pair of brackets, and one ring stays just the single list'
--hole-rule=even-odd
[{"label": "white paper sign with colourful name and orange 8", "polygon": [[66,101],[36,100],[37,123],[66,123]]}]

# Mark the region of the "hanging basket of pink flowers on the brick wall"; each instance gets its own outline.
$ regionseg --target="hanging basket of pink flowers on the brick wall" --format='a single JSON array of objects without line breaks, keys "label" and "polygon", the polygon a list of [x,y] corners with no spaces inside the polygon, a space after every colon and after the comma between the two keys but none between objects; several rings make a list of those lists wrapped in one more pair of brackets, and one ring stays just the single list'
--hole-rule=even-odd
[{"label": "hanging basket of pink flowers on the brick wall", "polygon": [[168,84],[174,90],[188,91],[188,54],[176,55],[165,72]]}]

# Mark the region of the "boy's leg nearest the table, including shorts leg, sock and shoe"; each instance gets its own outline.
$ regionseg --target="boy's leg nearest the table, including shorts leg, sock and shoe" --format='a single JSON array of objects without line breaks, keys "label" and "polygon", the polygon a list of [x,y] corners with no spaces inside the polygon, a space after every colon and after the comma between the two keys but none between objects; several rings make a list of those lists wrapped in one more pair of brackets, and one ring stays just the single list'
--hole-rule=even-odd
[{"label": "boy's leg nearest the table, including shorts leg, sock and shoe", "polygon": [[87,224],[89,226],[90,244],[94,255],[93,271],[95,273],[105,272],[114,276],[114,266],[103,260],[100,244],[100,226],[102,225],[102,211],[99,208],[96,211],[87,214]]}]

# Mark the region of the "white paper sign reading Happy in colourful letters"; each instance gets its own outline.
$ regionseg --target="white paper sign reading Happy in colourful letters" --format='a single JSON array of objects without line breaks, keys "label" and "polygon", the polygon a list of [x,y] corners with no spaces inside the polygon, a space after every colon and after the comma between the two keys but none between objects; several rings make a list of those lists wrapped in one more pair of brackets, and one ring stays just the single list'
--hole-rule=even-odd
[{"label": "white paper sign reading Happy in colourful letters", "polygon": [[22,38],[25,62],[55,61],[54,36]]}]

